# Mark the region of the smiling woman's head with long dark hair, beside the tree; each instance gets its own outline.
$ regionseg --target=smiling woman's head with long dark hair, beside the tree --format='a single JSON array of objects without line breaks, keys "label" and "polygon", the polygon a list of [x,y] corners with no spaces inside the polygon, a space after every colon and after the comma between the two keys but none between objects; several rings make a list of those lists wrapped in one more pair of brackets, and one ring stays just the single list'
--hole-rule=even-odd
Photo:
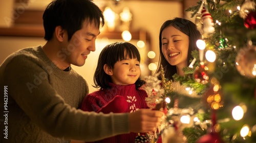
[{"label": "smiling woman's head with long dark hair, beside the tree", "polygon": [[165,78],[173,80],[173,75],[184,76],[183,67],[192,59],[191,51],[198,50],[196,41],[202,36],[195,23],[174,18],[163,23],[159,33],[160,58],[157,72],[163,66]]}]

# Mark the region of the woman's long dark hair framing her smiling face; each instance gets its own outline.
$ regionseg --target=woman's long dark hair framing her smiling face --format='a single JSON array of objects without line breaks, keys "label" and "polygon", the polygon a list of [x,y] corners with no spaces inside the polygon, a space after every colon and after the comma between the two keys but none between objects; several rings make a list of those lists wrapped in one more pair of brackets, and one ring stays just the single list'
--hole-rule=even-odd
[{"label": "woman's long dark hair framing her smiling face", "polygon": [[161,26],[160,33],[159,33],[160,57],[159,57],[158,68],[156,72],[158,73],[161,70],[161,65],[162,65],[165,71],[164,77],[166,79],[173,80],[173,75],[177,73],[176,66],[170,65],[168,61],[164,58],[164,55],[162,53],[162,32],[165,28],[170,26],[173,26],[174,28],[178,29],[179,31],[181,31],[182,33],[186,34],[189,37],[187,64],[189,64],[189,60],[192,59],[191,51],[198,50],[196,41],[198,39],[201,39],[202,35],[198,31],[195,23],[184,18],[176,17],[174,19],[167,20]]}]

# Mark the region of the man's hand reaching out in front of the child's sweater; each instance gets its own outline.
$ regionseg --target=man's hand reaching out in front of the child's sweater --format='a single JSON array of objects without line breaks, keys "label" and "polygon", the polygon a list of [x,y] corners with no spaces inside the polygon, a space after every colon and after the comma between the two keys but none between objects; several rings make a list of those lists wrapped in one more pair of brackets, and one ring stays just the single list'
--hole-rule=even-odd
[{"label": "man's hand reaching out in front of the child's sweater", "polygon": [[155,131],[164,116],[162,111],[152,109],[140,109],[129,114],[129,127],[131,132]]}]

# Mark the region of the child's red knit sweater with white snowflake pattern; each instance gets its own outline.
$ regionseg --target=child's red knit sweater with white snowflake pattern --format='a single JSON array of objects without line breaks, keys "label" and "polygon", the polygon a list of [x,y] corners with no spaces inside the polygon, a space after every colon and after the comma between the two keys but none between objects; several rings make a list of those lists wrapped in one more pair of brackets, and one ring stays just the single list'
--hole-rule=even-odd
[{"label": "child's red knit sweater with white snowflake pattern", "polygon": [[[142,108],[148,108],[145,102],[147,97],[146,91],[143,89],[136,89],[135,84],[132,85],[116,85],[110,83],[110,89],[101,89],[90,93],[84,98],[81,109],[83,111],[98,112],[101,107],[108,104],[115,96],[122,96],[128,103],[128,108],[125,112],[134,112]],[[115,110],[115,109],[113,109]],[[113,137],[105,138],[95,142],[134,142],[138,133],[120,134]]]}]

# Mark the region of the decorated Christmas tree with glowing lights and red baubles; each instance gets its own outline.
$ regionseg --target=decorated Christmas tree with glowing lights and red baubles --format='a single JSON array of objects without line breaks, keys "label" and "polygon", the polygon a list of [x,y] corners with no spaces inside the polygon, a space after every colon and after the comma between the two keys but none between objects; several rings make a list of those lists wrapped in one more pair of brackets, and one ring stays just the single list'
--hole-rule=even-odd
[{"label": "decorated Christmas tree with glowing lights and red baubles", "polygon": [[256,142],[255,8],[253,0],[204,0],[186,10],[196,17],[203,36],[197,42],[199,52],[193,51],[194,60],[183,68],[186,75],[176,74],[174,81],[199,98],[175,90],[165,94],[172,101],[167,105],[165,131],[170,126],[177,130],[174,116],[194,120],[173,138],[201,143]]}]

